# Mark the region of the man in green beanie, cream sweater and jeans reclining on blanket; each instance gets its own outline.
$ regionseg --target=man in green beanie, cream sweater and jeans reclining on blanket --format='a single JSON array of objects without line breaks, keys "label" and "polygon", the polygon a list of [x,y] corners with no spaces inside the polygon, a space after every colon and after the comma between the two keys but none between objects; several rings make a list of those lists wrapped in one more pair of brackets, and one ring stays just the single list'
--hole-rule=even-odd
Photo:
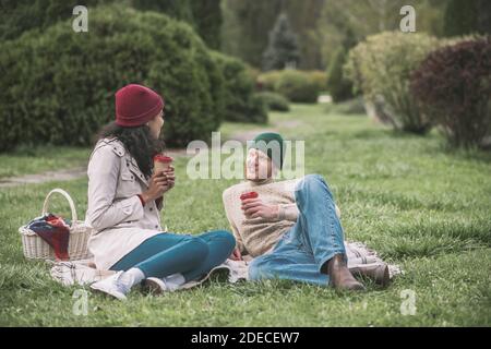
[{"label": "man in green beanie, cream sweater and jeans reclining on blanket", "polygon": [[[274,152],[275,145],[279,152]],[[246,253],[253,257],[251,280],[280,278],[363,290],[347,267],[340,213],[327,183],[319,174],[275,181],[284,153],[279,134],[258,135],[248,151],[246,181],[224,191],[237,241],[230,258],[241,260]],[[362,268],[360,274],[383,285],[388,281],[386,265]]]}]

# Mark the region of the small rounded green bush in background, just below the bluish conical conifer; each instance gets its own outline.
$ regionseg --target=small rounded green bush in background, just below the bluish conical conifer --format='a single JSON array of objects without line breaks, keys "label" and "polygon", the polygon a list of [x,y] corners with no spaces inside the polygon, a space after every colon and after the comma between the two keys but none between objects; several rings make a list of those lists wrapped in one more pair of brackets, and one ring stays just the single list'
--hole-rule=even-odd
[{"label": "small rounded green bush in background, just below the bluish conical conifer", "polygon": [[316,103],[319,96],[318,85],[308,74],[296,70],[285,70],[276,81],[274,91],[294,103]]}]

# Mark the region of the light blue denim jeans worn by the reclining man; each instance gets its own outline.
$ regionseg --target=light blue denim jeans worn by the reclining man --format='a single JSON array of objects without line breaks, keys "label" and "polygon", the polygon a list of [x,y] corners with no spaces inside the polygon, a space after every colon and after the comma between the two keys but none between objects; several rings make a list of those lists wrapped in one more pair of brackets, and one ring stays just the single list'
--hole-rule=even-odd
[{"label": "light blue denim jeans worn by the reclining man", "polygon": [[343,254],[347,261],[333,194],[321,176],[309,174],[297,184],[295,198],[300,210],[297,222],[285,232],[273,252],[251,262],[249,278],[327,286],[328,275],[321,273],[324,264],[336,254]]}]

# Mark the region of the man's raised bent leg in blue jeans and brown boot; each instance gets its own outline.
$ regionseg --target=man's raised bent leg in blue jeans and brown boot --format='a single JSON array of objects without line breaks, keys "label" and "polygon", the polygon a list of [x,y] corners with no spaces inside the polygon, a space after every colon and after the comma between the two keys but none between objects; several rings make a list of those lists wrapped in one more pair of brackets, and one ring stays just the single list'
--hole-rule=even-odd
[{"label": "man's raised bent leg in blue jeans and brown boot", "polygon": [[363,289],[347,267],[343,228],[324,179],[319,174],[306,176],[297,184],[295,198],[300,210],[296,232],[312,252],[319,272],[328,274],[338,289]]}]

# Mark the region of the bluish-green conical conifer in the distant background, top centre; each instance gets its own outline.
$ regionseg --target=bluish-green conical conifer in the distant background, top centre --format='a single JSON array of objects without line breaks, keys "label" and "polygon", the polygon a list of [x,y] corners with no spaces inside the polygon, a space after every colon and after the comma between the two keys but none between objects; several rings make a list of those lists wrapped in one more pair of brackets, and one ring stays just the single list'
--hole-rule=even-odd
[{"label": "bluish-green conical conifer in the distant background, top centre", "polygon": [[294,33],[285,13],[280,13],[273,31],[270,32],[270,43],[263,53],[263,70],[282,70],[288,65],[297,67],[300,60],[297,35]]}]

